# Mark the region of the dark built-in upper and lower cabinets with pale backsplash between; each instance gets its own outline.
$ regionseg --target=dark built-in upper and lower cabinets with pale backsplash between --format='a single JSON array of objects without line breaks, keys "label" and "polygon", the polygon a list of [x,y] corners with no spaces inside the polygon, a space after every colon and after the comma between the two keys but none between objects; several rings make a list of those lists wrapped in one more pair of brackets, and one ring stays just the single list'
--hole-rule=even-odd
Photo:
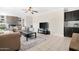
[{"label": "dark built-in upper and lower cabinets with pale backsplash between", "polygon": [[[65,12],[64,22],[65,22],[65,26],[64,26],[65,37],[72,37],[73,33],[79,33],[79,23],[78,23],[79,22],[79,10]],[[68,24],[69,22],[71,22],[71,24]],[[74,23],[77,26],[76,27],[67,26],[67,25],[72,25],[72,23]]]}]

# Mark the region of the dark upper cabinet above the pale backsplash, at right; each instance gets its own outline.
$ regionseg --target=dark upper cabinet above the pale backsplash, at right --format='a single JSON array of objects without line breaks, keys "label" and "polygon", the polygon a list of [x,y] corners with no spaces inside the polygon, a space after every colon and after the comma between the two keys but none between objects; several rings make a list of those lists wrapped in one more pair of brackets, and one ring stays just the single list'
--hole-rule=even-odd
[{"label": "dark upper cabinet above the pale backsplash, at right", "polygon": [[65,12],[64,19],[65,19],[65,21],[78,21],[79,20],[79,10]]}]

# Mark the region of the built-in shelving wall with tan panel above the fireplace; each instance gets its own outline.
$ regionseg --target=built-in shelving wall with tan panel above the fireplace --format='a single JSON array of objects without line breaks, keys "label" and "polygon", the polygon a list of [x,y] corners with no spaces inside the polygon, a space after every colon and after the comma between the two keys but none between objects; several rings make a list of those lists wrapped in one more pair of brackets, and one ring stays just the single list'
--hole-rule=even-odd
[{"label": "built-in shelving wall with tan panel above the fireplace", "polygon": [[10,26],[21,27],[22,20],[17,16],[0,15],[0,29],[9,29]]}]

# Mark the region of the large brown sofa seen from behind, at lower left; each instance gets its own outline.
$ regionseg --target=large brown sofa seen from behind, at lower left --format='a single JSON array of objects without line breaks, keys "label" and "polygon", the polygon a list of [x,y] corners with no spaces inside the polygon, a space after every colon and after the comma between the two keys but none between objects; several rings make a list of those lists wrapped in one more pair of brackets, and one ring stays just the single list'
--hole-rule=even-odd
[{"label": "large brown sofa seen from behind, at lower left", "polygon": [[17,51],[20,49],[20,33],[9,32],[0,34],[0,51]]}]

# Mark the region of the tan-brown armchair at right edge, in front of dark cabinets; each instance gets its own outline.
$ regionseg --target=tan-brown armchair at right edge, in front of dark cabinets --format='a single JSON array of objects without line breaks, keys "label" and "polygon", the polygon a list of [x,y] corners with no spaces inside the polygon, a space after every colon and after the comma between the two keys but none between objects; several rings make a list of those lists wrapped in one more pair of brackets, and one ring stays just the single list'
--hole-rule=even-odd
[{"label": "tan-brown armchair at right edge, in front of dark cabinets", "polygon": [[69,49],[70,51],[79,51],[79,33],[73,33]]}]

